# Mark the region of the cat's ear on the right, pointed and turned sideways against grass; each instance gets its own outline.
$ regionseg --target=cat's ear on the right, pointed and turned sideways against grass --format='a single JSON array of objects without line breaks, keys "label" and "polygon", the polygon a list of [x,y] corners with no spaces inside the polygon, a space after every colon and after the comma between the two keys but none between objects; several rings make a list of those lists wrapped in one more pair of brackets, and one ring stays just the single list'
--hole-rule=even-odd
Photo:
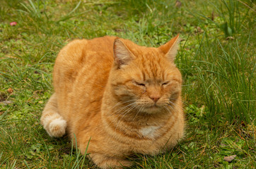
[{"label": "cat's ear on the right, pointed and turned sideways against grass", "polygon": [[178,53],[179,43],[180,43],[180,39],[179,39],[179,35],[177,35],[176,37],[173,37],[173,39],[170,39],[170,41],[167,42],[166,44],[163,44],[162,46],[160,46],[159,49],[163,51],[165,56],[168,57],[170,61],[174,61],[175,56]]}]

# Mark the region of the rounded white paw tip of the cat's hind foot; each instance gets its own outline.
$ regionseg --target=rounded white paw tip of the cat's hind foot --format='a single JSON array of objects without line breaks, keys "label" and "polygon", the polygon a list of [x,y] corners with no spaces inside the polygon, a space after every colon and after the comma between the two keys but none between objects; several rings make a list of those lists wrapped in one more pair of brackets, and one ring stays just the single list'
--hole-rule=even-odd
[{"label": "rounded white paw tip of the cat's hind foot", "polygon": [[49,125],[49,132],[48,134],[51,137],[62,137],[66,132],[66,120],[62,118],[57,118],[52,120]]}]

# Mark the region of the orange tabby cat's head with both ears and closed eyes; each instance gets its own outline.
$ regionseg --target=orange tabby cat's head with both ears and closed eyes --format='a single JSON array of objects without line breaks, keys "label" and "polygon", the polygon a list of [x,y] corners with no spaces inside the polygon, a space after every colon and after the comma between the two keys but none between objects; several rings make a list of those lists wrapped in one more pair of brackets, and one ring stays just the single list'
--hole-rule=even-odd
[{"label": "orange tabby cat's head with both ears and closed eyes", "polygon": [[180,97],[182,85],[174,63],[178,43],[178,36],[158,48],[115,39],[110,85],[117,100],[127,109],[145,113],[170,110]]}]

